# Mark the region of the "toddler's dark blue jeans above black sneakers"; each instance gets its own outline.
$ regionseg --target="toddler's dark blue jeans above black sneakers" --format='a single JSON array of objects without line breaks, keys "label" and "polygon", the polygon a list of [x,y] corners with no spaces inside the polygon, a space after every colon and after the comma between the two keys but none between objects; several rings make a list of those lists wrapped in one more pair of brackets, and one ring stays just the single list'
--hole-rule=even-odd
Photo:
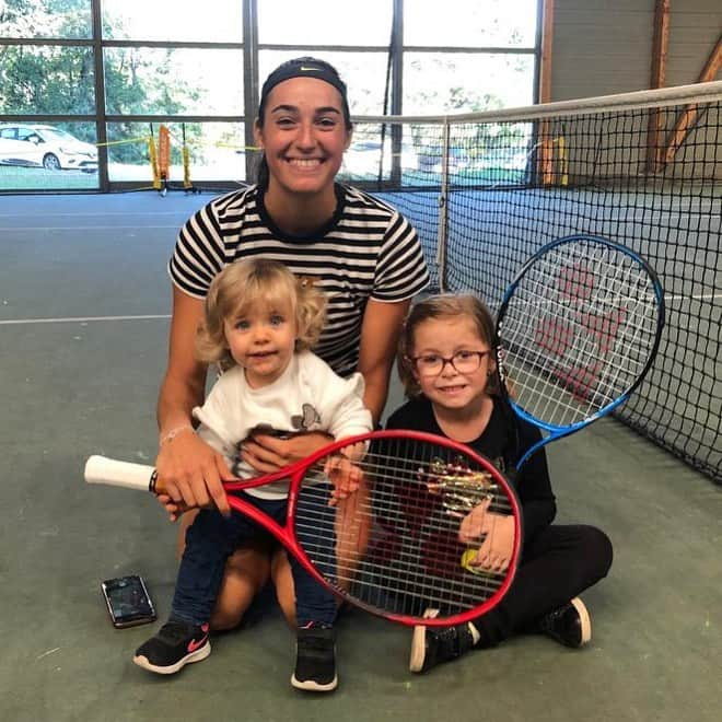
[{"label": "toddler's dark blue jeans above black sneakers", "polygon": [[[288,500],[259,499],[243,491],[235,493],[279,524],[282,525],[286,521]],[[318,497],[323,505],[325,503],[323,499],[328,498],[328,490],[325,486],[305,487],[303,494]],[[197,626],[205,625],[210,619],[216,604],[226,559],[258,533],[259,526],[238,512],[233,511],[226,519],[216,509],[201,509],[186,533],[186,548],[178,569],[171,618]],[[325,520],[323,522],[319,520],[313,534],[301,529],[296,534],[301,546],[305,546],[304,536],[308,539],[313,537],[316,544],[319,536],[324,543],[336,544],[333,523],[329,524]],[[334,594],[313,579],[292,555],[289,555],[289,558],[295,587],[299,627],[305,627],[310,622],[333,625],[337,613]],[[321,571],[326,577],[333,573],[327,569]]]}]

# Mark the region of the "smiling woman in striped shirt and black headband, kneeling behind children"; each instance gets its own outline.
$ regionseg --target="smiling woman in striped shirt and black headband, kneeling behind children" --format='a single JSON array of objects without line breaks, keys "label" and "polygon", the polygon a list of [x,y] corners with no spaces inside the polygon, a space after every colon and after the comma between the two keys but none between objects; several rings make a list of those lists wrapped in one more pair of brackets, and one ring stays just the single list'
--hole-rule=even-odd
[{"label": "smiling woman in striped shirt and black headband, kneeling behind children", "polygon": [[[264,255],[316,284],[327,296],[328,325],[315,351],[340,375],[363,375],[363,400],[376,423],[401,321],[411,298],[428,282],[421,246],[408,221],[371,196],[336,183],[352,125],[346,85],[333,66],[305,57],[277,68],[264,83],[254,132],[264,153],[258,184],[211,201],[178,236],[170,264],[168,363],[158,404],[156,467],[168,494],[190,506],[213,503],[223,513],[229,504],[222,481],[232,474],[191,426],[207,373],[194,354],[194,338],[213,277],[237,258]],[[290,440],[256,434],[242,444],[241,458],[265,473],[327,442],[318,433]],[[182,544],[190,523],[191,514],[186,514]],[[242,549],[229,560],[211,627],[237,625],[269,575],[293,624],[288,561],[269,544]]]}]

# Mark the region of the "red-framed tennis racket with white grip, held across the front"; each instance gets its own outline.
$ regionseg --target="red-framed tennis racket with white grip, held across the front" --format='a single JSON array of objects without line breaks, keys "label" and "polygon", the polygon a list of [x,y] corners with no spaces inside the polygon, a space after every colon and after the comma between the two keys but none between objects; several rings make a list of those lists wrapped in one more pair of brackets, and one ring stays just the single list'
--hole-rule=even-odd
[{"label": "red-framed tennis racket with white grip, held across the front", "polygon": [[[350,462],[345,450],[358,450],[360,442],[365,453]],[[329,505],[334,486],[343,481],[339,475],[349,469],[358,490]],[[248,494],[233,494],[284,479],[283,525],[257,509]],[[151,466],[103,456],[88,459],[85,480],[163,491]],[[501,601],[514,577],[522,542],[516,496],[490,461],[449,439],[375,431],[224,488],[233,510],[272,533],[322,584],[357,607],[404,625],[473,619]],[[462,538],[469,538],[470,521],[476,532],[469,544]],[[459,537],[462,527],[466,536]],[[508,563],[496,570],[474,566],[477,549],[497,533],[505,536]],[[429,606],[439,615],[423,617]]]}]

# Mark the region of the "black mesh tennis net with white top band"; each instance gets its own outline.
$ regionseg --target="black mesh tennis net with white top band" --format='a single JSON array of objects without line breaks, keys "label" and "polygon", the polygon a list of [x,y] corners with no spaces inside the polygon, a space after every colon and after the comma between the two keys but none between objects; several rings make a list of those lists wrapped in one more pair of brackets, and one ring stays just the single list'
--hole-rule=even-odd
[{"label": "black mesh tennis net with white top band", "polygon": [[444,117],[357,118],[346,178],[416,225],[436,289],[497,310],[549,241],[645,257],[667,323],[617,417],[722,484],[722,82]]}]

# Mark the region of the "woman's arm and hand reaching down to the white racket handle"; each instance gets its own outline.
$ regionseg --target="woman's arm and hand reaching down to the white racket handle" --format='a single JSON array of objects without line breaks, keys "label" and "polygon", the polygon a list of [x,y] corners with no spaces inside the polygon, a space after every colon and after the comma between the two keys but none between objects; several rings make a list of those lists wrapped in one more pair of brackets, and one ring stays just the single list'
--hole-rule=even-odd
[{"label": "woman's arm and hand reaching down to the white racket handle", "polygon": [[168,496],[188,506],[208,505],[230,513],[222,479],[231,479],[223,456],[193,433],[193,408],[203,400],[205,364],[196,360],[196,329],[203,302],[173,289],[168,363],[158,399],[160,450],[155,461]]}]

